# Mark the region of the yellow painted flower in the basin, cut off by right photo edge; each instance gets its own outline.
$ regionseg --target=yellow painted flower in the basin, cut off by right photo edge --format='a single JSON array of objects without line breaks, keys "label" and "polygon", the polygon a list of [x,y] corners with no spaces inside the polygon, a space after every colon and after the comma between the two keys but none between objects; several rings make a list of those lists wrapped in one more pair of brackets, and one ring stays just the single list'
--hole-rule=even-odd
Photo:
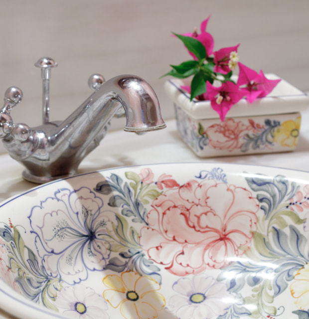
[{"label": "yellow painted flower in the basin, cut off by right photo edge", "polygon": [[296,273],[290,291],[291,295],[296,298],[296,307],[307,310],[309,308],[309,264]]}]

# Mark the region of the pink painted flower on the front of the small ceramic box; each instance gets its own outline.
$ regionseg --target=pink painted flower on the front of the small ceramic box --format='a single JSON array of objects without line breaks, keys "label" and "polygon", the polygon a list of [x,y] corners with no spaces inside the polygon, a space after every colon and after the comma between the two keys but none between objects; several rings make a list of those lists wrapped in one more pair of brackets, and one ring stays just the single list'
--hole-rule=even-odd
[{"label": "pink painted flower on the front of the small ceramic box", "polygon": [[235,122],[227,119],[220,124],[213,124],[206,129],[208,146],[216,150],[233,151],[240,149],[244,143],[244,137],[252,132],[251,125],[245,125],[242,121]]}]

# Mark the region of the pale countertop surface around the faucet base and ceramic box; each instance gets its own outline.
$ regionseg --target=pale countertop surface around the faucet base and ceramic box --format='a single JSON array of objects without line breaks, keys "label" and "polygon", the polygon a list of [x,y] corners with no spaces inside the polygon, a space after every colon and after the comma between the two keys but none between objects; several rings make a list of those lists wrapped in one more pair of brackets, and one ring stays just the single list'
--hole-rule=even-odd
[{"label": "pale countertop surface around the faucet base and ceramic box", "polygon": [[[309,171],[309,110],[302,112],[299,143],[296,150],[289,153],[198,158],[180,139],[175,120],[166,121],[166,125],[164,130],[144,135],[122,130],[109,132],[98,148],[81,163],[80,172],[167,162],[226,162]],[[0,201],[36,186],[22,179],[23,167],[7,154],[0,155],[0,165]],[[13,317],[1,315],[0,310],[0,319],[4,318]]]}]

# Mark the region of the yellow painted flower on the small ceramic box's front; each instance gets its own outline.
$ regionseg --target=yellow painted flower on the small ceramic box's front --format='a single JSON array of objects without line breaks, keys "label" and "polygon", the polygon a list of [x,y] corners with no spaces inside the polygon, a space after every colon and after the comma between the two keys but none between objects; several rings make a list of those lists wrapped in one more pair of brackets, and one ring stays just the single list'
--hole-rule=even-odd
[{"label": "yellow painted flower on the small ceramic box's front", "polygon": [[295,121],[289,120],[283,122],[274,132],[274,142],[280,143],[281,146],[296,147],[300,135],[301,117]]}]

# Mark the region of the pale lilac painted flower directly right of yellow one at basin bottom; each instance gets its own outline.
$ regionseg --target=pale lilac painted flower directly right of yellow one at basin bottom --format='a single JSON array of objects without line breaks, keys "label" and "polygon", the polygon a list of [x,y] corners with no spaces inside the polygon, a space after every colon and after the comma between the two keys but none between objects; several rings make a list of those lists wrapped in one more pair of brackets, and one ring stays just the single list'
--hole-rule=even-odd
[{"label": "pale lilac painted flower directly right of yellow one at basin bottom", "polygon": [[212,277],[180,278],[172,288],[177,295],[169,299],[167,310],[179,319],[217,318],[235,302],[226,286]]}]

